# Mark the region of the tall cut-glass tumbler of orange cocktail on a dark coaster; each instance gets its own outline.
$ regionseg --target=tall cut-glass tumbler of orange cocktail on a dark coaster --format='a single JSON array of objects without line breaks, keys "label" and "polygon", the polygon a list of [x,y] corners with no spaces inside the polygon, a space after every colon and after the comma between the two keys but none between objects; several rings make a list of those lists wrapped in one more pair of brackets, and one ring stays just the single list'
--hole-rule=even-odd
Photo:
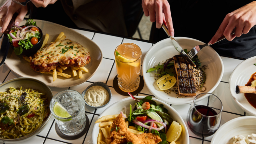
[{"label": "tall cut-glass tumbler of orange cocktail on a dark coaster", "polygon": [[140,84],[140,47],[133,43],[117,46],[115,61],[119,88],[125,92],[135,91]]}]

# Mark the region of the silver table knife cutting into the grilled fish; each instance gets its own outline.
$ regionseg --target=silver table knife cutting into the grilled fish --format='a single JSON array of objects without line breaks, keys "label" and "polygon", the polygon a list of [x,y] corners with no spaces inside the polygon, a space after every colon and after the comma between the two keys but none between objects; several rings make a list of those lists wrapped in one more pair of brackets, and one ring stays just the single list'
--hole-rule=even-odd
[{"label": "silver table knife cutting into the grilled fish", "polygon": [[166,34],[168,35],[168,37],[171,39],[173,46],[175,47],[175,49],[183,56],[183,58],[185,60],[188,61],[188,63],[193,66],[196,67],[196,64],[187,56],[187,54],[184,52],[183,48],[180,46],[180,44],[175,40],[175,38],[173,38],[169,32],[168,32],[168,28],[166,27],[165,24],[162,25],[163,30],[165,30]]}]

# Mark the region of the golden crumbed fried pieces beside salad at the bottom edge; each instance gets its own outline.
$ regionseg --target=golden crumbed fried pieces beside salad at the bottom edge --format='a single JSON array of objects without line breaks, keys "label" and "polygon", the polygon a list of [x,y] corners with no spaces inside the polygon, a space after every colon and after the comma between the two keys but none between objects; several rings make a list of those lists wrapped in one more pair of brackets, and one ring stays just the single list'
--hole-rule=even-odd
[{"label": "golden crumbed fried pieces beside salad at the bottom edge", "polygon": [[113,121],[112,131],[106,139],[107,144],[126,144],[127,142],[132,142],[133,144],[157,144],[161,141],[160,137],[153,133],[135,135],[127,131],[122,114],[119,114]]}]

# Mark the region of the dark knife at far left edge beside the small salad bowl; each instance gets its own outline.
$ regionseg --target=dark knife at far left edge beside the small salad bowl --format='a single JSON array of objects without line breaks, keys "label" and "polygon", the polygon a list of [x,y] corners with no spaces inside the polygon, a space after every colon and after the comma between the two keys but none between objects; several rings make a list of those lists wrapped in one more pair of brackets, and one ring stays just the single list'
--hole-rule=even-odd
[{"label": "dark knife at far left edge beside the small salad bowl", "polygon": [[3,40],[2,40],[2,45],[1,45],[1,49],[0,49],[0,66],[2,66],[2,64],[4,63],[7,55],[8,55],[8,52],[9,52],[9,48],[10,48],[10,44],[8,42],[8,36],[7,36],[7,33],[10,32],[12,26],[14,25],[14,21],[15,21],[15,18],[17,17],[17,13],[15,13],[9,23],[9,25],[7,26],[6,30],[4,31],[4,34],[3,34]]}]

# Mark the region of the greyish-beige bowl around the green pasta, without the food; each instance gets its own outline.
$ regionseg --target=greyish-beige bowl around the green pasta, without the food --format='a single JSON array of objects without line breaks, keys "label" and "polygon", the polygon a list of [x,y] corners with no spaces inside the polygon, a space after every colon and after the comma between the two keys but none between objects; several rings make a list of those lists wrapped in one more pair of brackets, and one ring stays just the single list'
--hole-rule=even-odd
[{"label": "greyish-beige bowl around the green pasta, without the food", "polygon": [[[39,80],[36,80],[34,78],[28,78],[28,77],[14,78],[10,81],[4,82],[3,84],[0,85],[0,92],[8,91],[9,87],[20,88],[21,86],[24,89],[31,88],[31,89],[37,90],[38,92],[44,93],[45,96],[48,98],[49,102],[53,98],[53,93],[51,89],[45,83]],[[52,116],[52,113],[50,112],[48,118],[42,123],[42,125],[32,133],[17,139],[1,139],[0,138],[0,142],[21,143],[33,138],[34,136],[38,135],[46,127],[51,116]]]}]

